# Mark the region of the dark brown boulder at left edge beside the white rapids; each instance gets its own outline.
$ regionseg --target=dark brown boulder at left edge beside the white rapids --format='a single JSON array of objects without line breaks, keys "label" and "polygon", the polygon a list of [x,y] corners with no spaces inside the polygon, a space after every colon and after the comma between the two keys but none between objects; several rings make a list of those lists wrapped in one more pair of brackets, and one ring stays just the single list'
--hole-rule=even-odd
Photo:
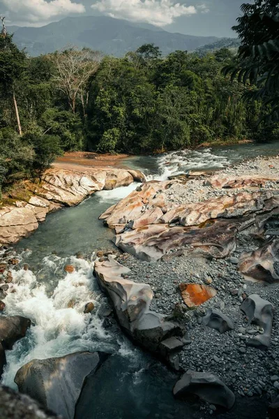
[{"label": "dark brown boulder at left edge beside the white rapids", "polygon": [[12,349],[16,341],[24,337],[30,328],[29,318],[22,316],[0,317],[0,341],[5,349]]}]

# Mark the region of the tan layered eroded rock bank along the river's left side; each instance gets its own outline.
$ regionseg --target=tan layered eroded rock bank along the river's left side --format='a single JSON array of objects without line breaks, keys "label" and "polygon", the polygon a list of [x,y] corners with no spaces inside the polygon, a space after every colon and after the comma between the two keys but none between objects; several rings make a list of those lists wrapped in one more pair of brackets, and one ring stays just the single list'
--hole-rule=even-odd
[{"label": "tan layered eroded rock bank along the river's left side", "polygon": [[45,221],[50,212],[77,205],[103,189],[144,181],[137,170],[91,168],[86,172],[50,168],[40,183],[23,182],[0,207],[0,244],[14,244],[27,237]]}]

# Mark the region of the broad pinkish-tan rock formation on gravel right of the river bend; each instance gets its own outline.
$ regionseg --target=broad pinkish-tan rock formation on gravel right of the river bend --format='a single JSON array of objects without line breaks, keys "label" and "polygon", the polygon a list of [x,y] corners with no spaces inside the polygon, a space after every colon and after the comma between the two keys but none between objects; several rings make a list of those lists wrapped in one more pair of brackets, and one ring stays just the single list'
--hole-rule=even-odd
[{"label": "broad pinkish-tan rock formation on gravel right of the river bend", "polygon": [[208,258],[225,258],[236,235],[279,213],[271,191],[243,191],[183,205],[168,203],[165,191],[177,181],[146,182],[100,216],[116,231],[115,244],[138,258],[155,261],[188,247]]}]

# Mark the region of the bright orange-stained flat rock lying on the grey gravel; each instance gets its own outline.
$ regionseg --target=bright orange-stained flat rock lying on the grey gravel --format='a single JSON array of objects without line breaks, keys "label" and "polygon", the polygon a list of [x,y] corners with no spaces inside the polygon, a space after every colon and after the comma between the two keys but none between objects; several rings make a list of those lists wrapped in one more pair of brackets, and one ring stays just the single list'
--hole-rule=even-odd
[{"label": "bright orange-stained flat rock lying on the grey gravel", "polygon": [[180,284],[179,288],[188,307],[197,307],[217,294],[217,291],[208,285]]}]

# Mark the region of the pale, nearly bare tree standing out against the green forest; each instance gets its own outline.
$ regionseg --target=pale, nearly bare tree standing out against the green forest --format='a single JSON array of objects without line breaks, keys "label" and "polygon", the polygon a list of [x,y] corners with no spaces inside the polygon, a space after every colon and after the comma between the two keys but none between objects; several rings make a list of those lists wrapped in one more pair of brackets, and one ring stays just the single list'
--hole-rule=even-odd
[{"label": "pale, nearly bare tree standing out against the green forest", "polygon": [[73,113],[76,112],[77,98],[80,98],[85,115],[85,105],[88,101],[86,84],[98,70],[101,57],[100,52],[94,52],[88,48],[80,51],[75,47],[56,52],[51,56],[57,72],[54,82],[65,94]]}]

